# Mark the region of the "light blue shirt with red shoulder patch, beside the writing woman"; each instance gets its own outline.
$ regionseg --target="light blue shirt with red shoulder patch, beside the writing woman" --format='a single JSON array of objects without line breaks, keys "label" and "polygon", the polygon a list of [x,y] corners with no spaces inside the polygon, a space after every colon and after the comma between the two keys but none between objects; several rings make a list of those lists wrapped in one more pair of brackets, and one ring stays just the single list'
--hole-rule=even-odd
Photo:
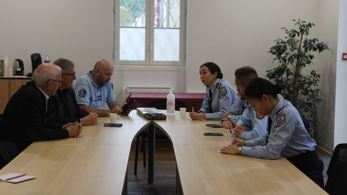
[{"label": "light blue shirt with red shoulder patch, beside the writing woman", "polygon": [[267,135],[268,117],[257,113],[253,106],[248,105],[243,111],[241,118],[237,121],[236,125],[243,125],[248,131],[241,133],[241,138],[244,140],[254,140],[256,138]]}]

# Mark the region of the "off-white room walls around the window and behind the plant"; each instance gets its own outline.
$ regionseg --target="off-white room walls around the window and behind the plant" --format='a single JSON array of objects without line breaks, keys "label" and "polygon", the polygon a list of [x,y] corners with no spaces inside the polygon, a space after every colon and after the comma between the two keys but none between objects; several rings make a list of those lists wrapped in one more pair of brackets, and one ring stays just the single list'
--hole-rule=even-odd
[{"label": "off-white room walls around the window and behind the plant", "polygon": [[[186,71],[116,69],[113,76],[116,97],[120,102],[125,100],[122,95],[124,87],[172,87],[175,92],[203,93],[205,89],[198,70],[207,61],[219,64],[225,79],[231,84],[235,68],[243,65],[255,67],[264,77],[266,70],[278,65],[272,63],[273,56],[267,52],[274,45],[273,40],[284,37],[280,28],[293,26],[292,19],[314,22],[317,28],[313,29],[311,36],[329,42],[334,48],[337,42],[336,2],[188,0]],[[8,56],[10,62],[15,58],[23,59],[25,73],[28,73],[31,72],[30,54],[34,52],[41,53],[42,57],[50,54],[52,60],[66,57],[75,63],[77,76],[85,74],[100,58],[113,61],[113,4],[114,0],[1,0],[0,59],[3,56]],[[341,49],[346,47],[346,39],[343,44],[345,46],[341,45]],[[337,55],[341,52],[338,51]],[[330,106],[335,101],[329,95],[334,94],[334,86],[325,83],[334,79],[336,61],[332,57],[334,53],[325,55],[324,63],[313,65],[324,73],[322,98],[326,103],[318,110],[326,110],[333,117],[334,109]],[[320,60],[317,58],[316,61]],[[346,62],[341,63],[346,66]],[[344,71],[341,63],[340,77]],[[320,118],[322,115],[318,115]],[[334,131],[331,128],[326,131],[317,137],[323,144],[333,147]]]}]

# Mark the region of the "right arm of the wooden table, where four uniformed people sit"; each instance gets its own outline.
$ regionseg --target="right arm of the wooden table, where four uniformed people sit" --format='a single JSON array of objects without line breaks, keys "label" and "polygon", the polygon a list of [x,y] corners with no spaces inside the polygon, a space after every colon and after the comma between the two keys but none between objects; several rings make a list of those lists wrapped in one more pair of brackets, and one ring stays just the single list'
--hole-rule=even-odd
[{"label": "right arm of the wooden table, where four uniformed people sit", "polygon": [[[170,136],[184,195],[326,194],[284,157],[267,160],[217,152],[231,143],[231,134],[206,124],[220,121],[191,121],[175,112],[166,121],[153,123]],[[204,136],[204,132],[224,136]]]}]

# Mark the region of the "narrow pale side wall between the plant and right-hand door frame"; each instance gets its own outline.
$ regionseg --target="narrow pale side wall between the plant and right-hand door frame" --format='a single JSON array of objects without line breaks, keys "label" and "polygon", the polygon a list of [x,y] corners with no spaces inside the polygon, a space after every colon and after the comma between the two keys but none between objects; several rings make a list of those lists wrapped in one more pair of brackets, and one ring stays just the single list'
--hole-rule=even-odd
[{"label": "narrow pale side wall between the plant and right-hand door frame", "polygon": [[319,0],[316,23],[317,38],[329,44],[330,51],[316,54],[314,68],[321,74],[320,90],[323,101],[316,109],[318,128],[315,139],[319,146],[334,149],[335,81],[338,42],[339,0]]}]

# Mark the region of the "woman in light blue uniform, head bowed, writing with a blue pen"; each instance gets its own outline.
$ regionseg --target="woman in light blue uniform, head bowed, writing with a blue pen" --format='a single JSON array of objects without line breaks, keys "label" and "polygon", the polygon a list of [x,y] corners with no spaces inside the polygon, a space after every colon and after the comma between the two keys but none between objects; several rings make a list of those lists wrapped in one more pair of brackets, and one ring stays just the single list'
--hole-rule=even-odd
[{"label": "woman in light blue uniform, head bowed, writing with a blue pen", "polygon": [[299,112],[279,98],[282,87],[262,78],[253,79],[245,89],[254,110],[268,115],[268,134],[254,140],[223,147],[221,153],[256,158],[286,157],[295,167],[323,188],[323,163],[316,153],[316,142],[305,129]]}]

